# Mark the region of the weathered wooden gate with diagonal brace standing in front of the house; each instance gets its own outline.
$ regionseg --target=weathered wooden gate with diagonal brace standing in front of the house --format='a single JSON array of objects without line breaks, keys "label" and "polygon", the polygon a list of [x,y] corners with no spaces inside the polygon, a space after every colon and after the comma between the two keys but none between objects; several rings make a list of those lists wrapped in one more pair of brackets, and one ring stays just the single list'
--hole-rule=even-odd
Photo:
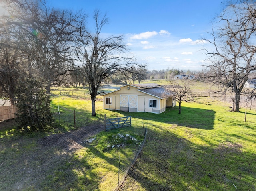
[{"label": "weathered wooden gate with diagonal brace standing in front of the house", "polygon": [[122,127],[130,127],[132,124],[132,117],[119,117],[119,118],[113,118],[113,119],[106,119],[105,114],[105,130],[110,129],[117,129]]}]

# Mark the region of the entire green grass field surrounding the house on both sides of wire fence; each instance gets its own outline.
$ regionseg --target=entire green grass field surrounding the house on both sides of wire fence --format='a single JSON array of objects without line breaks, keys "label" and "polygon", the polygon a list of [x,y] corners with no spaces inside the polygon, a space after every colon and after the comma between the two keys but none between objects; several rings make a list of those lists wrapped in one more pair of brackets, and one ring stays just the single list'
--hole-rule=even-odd
[{"label": "entire green grass field surrounding the house on both sides of wire fence", "polygon": [[[198,87],[198,91],[203,90],[203,85]],[[239,113],[229,112],[230,104],[203,97],[196,102],[182,102],[181,114],[177,106],[162,114],[126,113],[103,110],[99,97],[97,116],[92,117],[88,91],[61,90],[73,90],[73,95],[59,96],[57,88],[52,91],[52,111],[57,114],[51,132],[24,135],[12,126],[0,128],[0,190],[110,191],[117,185],[119,156],[122,165],[128,165],[127,158],[132,156],[136,144],[108,150],[107,142],[113,141],[111,138],[117,133],[132,134],[141,141],[142,124],[148,127],[147,140],[120,190],[256,190],[253,109],[247,111],[244,121],[245,108]],[[102,124],[104,114],[109,118],[131,115],[132,127],[100,132],[96,141],[79,143],[73,152],[54,146],[42,150],[39,139],[74,131],[74,110],[78,130]]]}]

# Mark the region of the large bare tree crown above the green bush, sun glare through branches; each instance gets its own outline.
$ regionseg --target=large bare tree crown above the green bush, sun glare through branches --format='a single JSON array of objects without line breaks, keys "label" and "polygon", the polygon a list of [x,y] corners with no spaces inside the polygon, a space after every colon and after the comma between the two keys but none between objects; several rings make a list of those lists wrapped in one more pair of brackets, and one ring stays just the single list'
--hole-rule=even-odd
[{"label": "large bare tree crown above the green bush, sun glare through branches", "polygon": [[[32,76],[31,69],[36,68],[37,77],[50,93],[50,86],[60,85],[72,68],[74,42],[86,16],[49,9],[44,0],[4,2],[12,17],[2,16],[1,32],[19,39],[18,48],[27,56],[29,75]],[[10,47],[8,43],[2,45]]]}]

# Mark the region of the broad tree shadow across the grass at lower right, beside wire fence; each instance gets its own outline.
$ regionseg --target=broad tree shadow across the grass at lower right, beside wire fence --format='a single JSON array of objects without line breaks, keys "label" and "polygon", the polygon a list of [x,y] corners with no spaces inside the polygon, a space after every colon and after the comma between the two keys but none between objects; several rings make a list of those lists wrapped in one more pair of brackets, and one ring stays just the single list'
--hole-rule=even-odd
[{"label": "broad tree shadow across the grass at lower right, beside wire fence", "polygon": [[162,191],[255,189],[256,169],[250,167],[255,154],[224,137],[218,146],[204,146],[166,131],[148,129],[146,145],[120,190],[136,185]]}]

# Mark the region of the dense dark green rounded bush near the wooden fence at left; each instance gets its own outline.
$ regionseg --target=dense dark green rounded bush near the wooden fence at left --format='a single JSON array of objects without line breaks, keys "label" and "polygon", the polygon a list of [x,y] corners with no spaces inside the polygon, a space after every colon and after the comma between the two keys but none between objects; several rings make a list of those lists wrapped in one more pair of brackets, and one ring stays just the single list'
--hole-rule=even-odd
[{"label": "dense dark green rounded bush near the wooden fence at left", "polygon": [[22,131],[38,131],[51,128],[50,96],[36,79],[26,78],[17,91],[18,128]]}]

